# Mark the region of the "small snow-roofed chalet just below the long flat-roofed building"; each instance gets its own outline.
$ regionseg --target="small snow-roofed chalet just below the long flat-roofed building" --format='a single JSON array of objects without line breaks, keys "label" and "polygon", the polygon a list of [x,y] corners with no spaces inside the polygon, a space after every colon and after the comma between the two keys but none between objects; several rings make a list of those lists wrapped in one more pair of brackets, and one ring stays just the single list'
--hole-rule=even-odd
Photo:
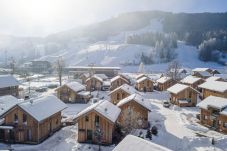
[{"label": "small snow-roofed chalet just below the long flat-roofed building", "polygon": [[104,90],[103,86],[110,87],[110,83],[107,84],[107,79],[108,77],[104,74],[94,74],[85,81],[86,89],[88,91]]}]

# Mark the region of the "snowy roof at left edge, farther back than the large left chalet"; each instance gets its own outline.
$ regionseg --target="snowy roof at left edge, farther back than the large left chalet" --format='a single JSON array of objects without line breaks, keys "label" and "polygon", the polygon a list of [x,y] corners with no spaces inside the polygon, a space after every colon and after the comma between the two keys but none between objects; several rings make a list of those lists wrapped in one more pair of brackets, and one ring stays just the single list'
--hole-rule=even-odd
[{"label": "snowy roof at left edge, farther back than the large left chalet", "polygon": [[12,75],[0,75],[0,88],[18,86],[19,84]]}]

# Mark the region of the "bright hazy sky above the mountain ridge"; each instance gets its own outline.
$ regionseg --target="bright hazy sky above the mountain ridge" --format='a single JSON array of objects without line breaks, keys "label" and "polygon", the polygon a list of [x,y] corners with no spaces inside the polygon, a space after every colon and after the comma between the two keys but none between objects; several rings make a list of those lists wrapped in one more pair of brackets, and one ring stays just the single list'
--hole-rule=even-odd
[{"label": "bright hazy sky above the mountain ridge", "polygon": [[46,36],[139,10],[226,12],[227,0],[0,0],[0,34]]}]

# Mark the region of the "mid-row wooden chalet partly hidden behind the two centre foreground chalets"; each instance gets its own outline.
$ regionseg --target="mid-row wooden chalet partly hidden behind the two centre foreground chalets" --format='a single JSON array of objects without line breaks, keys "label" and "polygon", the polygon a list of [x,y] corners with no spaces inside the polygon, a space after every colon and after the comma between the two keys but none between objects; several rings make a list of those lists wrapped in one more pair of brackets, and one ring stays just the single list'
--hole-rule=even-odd
[{"label": "mid-row wooden chalet partly hidden behind the two centre foreground chalets", "polygon": [[134,87],[128,84],[123,84],[122,86],[111,91],[109,95],[111,102],[116,105],[120,100],[134,93],[138,93]]}]

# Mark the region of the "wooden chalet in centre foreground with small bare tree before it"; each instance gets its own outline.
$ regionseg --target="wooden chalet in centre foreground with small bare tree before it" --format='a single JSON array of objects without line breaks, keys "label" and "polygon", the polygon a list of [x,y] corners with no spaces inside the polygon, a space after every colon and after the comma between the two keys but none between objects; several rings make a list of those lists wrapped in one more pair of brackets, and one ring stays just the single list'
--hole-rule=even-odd
[{"label": "wooden chalet in centre foreground with small bare tree before it", "polygon": [[79,112],[75,119],[78,123],[78,142],[98,143],[95,132],[101,130],[101,144],[112,144],[115,123],[120,112],[120,108],[107,100],[100,100]]}]

